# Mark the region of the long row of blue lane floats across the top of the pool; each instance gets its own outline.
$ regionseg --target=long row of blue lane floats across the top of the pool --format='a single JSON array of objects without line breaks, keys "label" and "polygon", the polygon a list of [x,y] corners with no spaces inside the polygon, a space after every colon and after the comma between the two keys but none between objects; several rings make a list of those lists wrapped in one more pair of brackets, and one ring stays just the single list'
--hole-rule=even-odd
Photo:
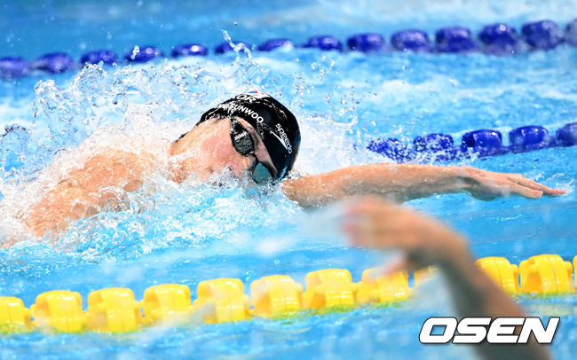
[{"label": "long row of blue lane floats across the top of the pool", "polygon": [[[557,26],[554,21],[540,20],[523,25],[519,34],[514,27],[507,24],[497,23],[487,25],[478,33],[478,42],[475,41],[469,28],[466,27],[443,27],[435,33],[435,43],[431,44],[429,36],[417,29],[408,29],[391,35],[391,46],[386,43],[383,35],[376,33],[356,34],[347,39],[350,51],[361,52],[388,52],[394,51],[420,51],[439,53],[468,53],[482,51],[492,55],[515,54],[520,51],[550,50],[560,43],[568,43],[577,46],[577,19],[569,22],[565,31]],[[252,49],[249,43],[244,44]],[[257,51],[273,51],[283,46],[316,48],[321,51],[343,51],[343,44],[333,36],[312,36],[306,43],[296,46],[288,39],[276,38],[265,41],[257,46]],[[214,52],[224,54],[233,51],[229,43],[218,44]],[[173,58],[185,56],[206,56],[209,50],[200,43],[187,43],[173,46],[170,55]],[[127,63],[142,63],[164,57],[161,49],[154,46],[141,46],[138,51],[130,51],[124,56]],[[0,59],[0,78],[18,78],[35,71],[58,74],[68,70],[77,69],[83,64],[121,65],[113,51],[89,51],[83,54],[79,64],[75,63],[64,52],[52,52],[45,54],[35,61],[28,62],[20,57],[5,57]]]}]

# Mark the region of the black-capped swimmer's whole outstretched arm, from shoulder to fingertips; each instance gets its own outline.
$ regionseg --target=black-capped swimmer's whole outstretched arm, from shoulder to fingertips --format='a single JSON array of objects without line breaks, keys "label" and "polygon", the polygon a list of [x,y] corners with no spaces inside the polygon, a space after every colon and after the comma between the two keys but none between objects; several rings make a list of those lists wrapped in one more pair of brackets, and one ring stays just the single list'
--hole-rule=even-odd
[{"label": "black-capped swimmer's whole outstretched arm, from shoulder to fingertips", "polygon": [[302,207],[315,207],[350,196],[380,195],[403,202],[452,192],[467,192],[481,200],[517,194],[529,199],[561,195],[521,174],[472,167],[410,164],[370,164],[340,168],[324,174],[288,179],[282,184],[288,198]]}]

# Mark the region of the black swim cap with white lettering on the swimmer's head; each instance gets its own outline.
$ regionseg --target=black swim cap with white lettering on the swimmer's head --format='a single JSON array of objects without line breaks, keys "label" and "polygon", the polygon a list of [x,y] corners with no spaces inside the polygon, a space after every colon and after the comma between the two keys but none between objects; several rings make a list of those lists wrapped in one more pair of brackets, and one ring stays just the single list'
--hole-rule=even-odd
[{"label": "black swim cap with white lettering on the swimmer's head", "polygon": [[238,116],[255,128],[273,160],[279,180],[288,175],[298,153],[301,132],[296,117],[264,92],[251,91],[229,98],[202,114],[201,121]]}]

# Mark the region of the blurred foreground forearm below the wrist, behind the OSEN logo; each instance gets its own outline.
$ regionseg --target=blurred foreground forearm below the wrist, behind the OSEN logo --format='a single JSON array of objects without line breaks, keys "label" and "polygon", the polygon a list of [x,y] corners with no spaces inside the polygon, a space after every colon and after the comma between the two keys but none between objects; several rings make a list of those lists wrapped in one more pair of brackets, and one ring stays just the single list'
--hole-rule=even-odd
[{"label": "blurred foreground forearm below the wrist, behind the OSEN logo", "polygon": [[[460,317],[526,317],[523,309],[474,264],[470,255],[444,262],[439,268],[448,280]],[[550,358],[548,348],[541,346],[534,338],[527,344],[517,345],[491,345],[483,342],[475,349],[486,359]]]}]

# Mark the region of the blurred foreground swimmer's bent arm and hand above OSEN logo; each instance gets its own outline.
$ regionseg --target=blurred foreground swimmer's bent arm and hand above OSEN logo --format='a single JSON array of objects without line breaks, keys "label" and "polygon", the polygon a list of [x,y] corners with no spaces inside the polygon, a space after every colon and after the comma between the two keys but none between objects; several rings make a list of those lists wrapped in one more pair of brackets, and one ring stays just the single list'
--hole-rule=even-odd
[{"label": "blurred foreground swimmer's bent arm and hand above OSEN logo", "polygon": [[[515,301],[475,265],[466,239],[434,219],[383,200],[364,198],[349,206],[344,231],[359,247],[400,249],[405,257],[385,271],[435,266],[447,286],[459,317],[526,317]],[[520,329],[516,329],[518,333]],[[534,337],[527,344],[475,347],[484,359],[550,359]]]}]

